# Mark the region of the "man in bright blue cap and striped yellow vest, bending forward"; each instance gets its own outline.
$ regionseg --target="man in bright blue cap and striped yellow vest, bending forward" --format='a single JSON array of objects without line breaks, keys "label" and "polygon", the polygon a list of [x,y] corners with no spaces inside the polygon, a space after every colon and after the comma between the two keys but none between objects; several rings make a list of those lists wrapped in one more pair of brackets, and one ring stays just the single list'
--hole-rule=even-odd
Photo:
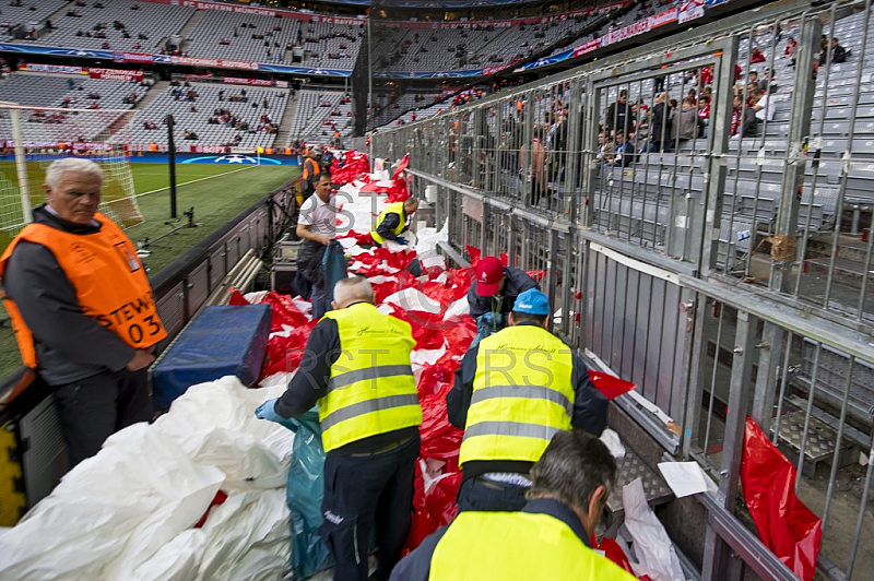
[{"label": "man in bright blue cap and striped yellow vest, bending forward", "polygon": [[606,426],[607,400],[582,359],[546,330],[551,312],[543,293],[525,290],[510,327],[461,360],[446,396],[449,422],[464,428],[459,512],[520,510],[529,471],[556,432],[572,427],[600,436]]}]

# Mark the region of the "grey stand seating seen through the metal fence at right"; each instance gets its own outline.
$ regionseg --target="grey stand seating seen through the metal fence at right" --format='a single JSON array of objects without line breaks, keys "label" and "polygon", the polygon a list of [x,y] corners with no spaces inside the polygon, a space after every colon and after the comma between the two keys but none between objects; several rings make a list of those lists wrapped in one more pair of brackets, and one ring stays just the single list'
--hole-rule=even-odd
[{"label": "grey stand seating seen through the metal fence at right", "polygon": [[[848,164],[845,199],[858,201],[860,204],[874,201],[871,193],[874,191],[874,159],[871,154],[874,145],[874,84],[870,64],[874,49],[860,46],[863,19],[864,14],[859,13],[835,24],[835,36],[846,44],[850,56],[846,62],[832,63],[828,70],[823,66],[818,71],[810,142],[810,155],[813,159],[806,164],[805,193],[799,215],[800,228],[811,234],[831,232],[835,228],[840,176],[845,163]],[[789,111],[792,105],[790,87],[795,72],[791,66],[792,59],[784,55],[784,49],[787,39],[794,33],[791,28],[786,31],[781,42],[775,47],[771,82],[775,88],[769,97],[772,100],[773,117],[757,123],[757,137],[734,138],[730,141],[730,152],[737,157],[728,168],[723,203],[730,212],[728,215],[723,214],[719,249],[720,258],[729,263],[753,251],[755,232],[758,229],[767,234],[777,218],[786,162],[770,156],[786,155],[787,151]],[[827,27],[824,34],[828,34]],[[758,49],[761,52],[759,58],[765,60],[751,63],[749,69],[743,71],[739,91],[743,91],[743,84],[752,72],[761,76],[765,68],[771,63],[769,51],[759,46],[767,46],[769,42],[769,36],[754,40],[753,50]],[[869,64],[861,72],[859,107],[855,111],[850,111],[848,105],[859,72],[857,55],[861,51],[865,51],[865,62]],[[749,56],[749,43],[744,39],[740,62],[746,66]],[[701,88],[697,83],[686,85],[675,75],[668,79],[666,85],[671,97],[678,99],[690,87],[698,91]],[[651,103],[652,92],[651,83],[645,82],[639,94],[635,94],[633,88],[629,103],[639,98]],[[610,102],[615,98],[615,93],[611,94]],[[541,115],[543,110],[545,109],[541,109]],[[849,120],[853,116],[854,123]],[[854,132],[852,141],[848,139],[851,126]],[[693,139],[681,142],[681,147],[675,153],[638,153],[636,163],[630,167],[602,165],[597,194],[599,205],[603,204],[602,211],[616,216],[642,212],[639,217],[643,222],[656,228],[663,228],[669,220],[670,208],[665,195],[670,195],[675,189],[693,197],[702,192],[705,176],[700,167],[705,161],[706,147],[706,139]],[[640,142],[637,142],[636,149],[640,150]],[[847,156],[850,151],[852,154]],[[648,202],[628,205],[629,194],[642,197]]]}]

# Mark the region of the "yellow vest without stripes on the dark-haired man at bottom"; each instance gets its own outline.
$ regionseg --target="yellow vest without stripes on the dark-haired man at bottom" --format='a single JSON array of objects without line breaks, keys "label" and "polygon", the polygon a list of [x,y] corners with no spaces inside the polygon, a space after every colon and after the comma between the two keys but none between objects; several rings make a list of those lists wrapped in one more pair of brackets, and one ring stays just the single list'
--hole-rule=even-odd
[{"label": "yellow vest without stripes on the dark-haired man at bottom", "polygon": [[430,581],[634,581],[566,523],[530,512],[462,512],[430,559]]}]

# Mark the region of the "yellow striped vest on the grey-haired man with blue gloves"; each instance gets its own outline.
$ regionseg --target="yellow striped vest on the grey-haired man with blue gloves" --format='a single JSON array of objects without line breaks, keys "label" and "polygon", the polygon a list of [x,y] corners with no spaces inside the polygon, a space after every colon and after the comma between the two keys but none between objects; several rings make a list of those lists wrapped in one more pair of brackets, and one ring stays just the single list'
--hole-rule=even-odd
[{"label": "yellow striped vest on the grey-haired man with blue gloves", "polygon": [[415,345],[410,323],[358,303],[324,315],[336,321],[340,356],[328,394],[319,400],[324,451],[422,424],[410,366]]}]

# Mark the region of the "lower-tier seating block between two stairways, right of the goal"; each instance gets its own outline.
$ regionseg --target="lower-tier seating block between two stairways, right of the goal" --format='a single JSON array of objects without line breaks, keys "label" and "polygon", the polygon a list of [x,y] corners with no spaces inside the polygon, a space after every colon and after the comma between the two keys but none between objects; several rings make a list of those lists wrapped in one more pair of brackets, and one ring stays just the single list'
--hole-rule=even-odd
[{"label": "lower-tier seating block between two stairways, right of the goal", "polygon": [[165,116],[173,114],[177,145],[271,147],[285,115],[287,98],[288,92],[282,88],[206,83],[170,86],[137,114],[131,141],[166,147],[167,131],[163,123]]}]

